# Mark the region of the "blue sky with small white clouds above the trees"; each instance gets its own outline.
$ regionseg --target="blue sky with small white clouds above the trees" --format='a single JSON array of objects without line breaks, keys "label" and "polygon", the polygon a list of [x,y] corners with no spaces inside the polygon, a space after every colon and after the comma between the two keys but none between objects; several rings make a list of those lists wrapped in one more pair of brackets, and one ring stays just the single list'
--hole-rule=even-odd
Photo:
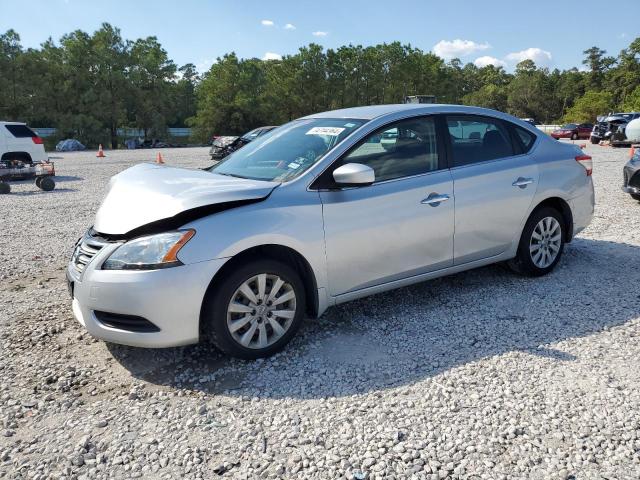
[{"label": "blue sky with small white clouds above the trees", "polygon": [[311,42],[325,48],[400,41],[445,59],[513,70],[583,68],[591,46],[617,55],[640,36],[640,0],[0,0],[0,33],[16,30],[38,47],[109,22],[127,39],[156,36],[176,64],[201,72],[216,58],[277,59]]}]

